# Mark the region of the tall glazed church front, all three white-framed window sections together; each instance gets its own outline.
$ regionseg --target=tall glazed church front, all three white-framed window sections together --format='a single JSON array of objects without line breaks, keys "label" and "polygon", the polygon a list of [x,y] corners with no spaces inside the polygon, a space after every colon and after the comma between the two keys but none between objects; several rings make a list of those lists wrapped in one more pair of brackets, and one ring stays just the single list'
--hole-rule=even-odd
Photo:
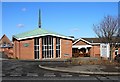
[{"label": "tall glazed church front, all three white-framed window sections together", "polygon": [[[56,37],[54,37],[56,38]],[[35,59],[40,57],[40,38],[34,39],[34,53]],[[54,47],[56,47],[56,58],[60,58],[60,38],[56,38],[56,46],[53,43],[52,36],[42,37],[42,58],[53,58],[54,57]]]}]

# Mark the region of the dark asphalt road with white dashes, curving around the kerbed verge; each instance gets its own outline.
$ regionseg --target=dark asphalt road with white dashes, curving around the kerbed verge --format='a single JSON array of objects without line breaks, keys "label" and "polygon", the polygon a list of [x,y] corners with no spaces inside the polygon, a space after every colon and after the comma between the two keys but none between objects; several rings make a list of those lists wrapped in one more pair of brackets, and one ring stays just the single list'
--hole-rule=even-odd
[{"label": "dark asphalt road with white dashes, curving around the kerbed verge", "polygon": [[[82,75],[44,70],[40,64],[62,64],[63,62],[41,62],[2,60],[3,80],[84,80],[84,81],[119,81],[120,76]],[[4,81],[3,81],[4,82]]]}]

